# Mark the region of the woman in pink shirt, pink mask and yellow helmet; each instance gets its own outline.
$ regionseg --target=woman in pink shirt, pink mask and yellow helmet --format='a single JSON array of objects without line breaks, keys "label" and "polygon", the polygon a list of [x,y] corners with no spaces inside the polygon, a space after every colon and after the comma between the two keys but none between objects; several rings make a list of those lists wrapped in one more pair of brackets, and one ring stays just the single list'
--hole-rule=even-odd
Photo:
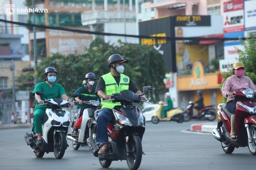
[{"label": "woman in pink shirt, pink mask and yellow helmet", "polygon": [[237,135],[235,131],[235,109],[237,100],[235,100],[235,97],[230,96],[232,96],[235,91],[239,91],[242,88],[251,88],[254,91],[256,88],[251,78],[249,78],[248,76],[244,76],[245,67],[243,63],[236,62],[233,65],[233,73],[234,75],[228,77],[223,83],[221,93],[224,97],[229,97],[227,99],[226,108],[230,113],[232,113],[230,119],[230,138],[236,139]]}]

